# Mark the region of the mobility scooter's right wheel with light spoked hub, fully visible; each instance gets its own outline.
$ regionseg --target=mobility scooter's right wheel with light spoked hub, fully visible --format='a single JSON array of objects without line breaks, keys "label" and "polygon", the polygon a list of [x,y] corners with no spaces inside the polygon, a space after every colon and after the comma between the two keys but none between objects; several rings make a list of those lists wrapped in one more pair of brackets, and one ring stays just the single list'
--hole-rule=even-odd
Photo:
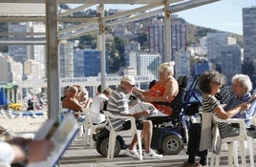
[{"label": "mobility scooter's right wheel with light spoked hub, fully visible", "polygon": [[182,150],[182,140],[179,136],[170,135],[162,140],[161,150],[166,155],[178,155]]}]

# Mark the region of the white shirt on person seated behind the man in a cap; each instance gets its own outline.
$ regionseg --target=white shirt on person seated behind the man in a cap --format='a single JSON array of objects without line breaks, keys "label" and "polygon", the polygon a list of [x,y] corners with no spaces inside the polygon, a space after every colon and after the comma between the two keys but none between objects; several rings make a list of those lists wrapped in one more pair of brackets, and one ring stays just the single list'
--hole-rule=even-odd
[{"label": "white shirt on person seated behind the man in a cap", "polygon": [[99,113],[99,111],[103,109],[105,100],[108,100],[108,97],[105,94],[97,94],[93,97],[93,102],[90,107],[92,110],[90,115],[93,123],[101,123],[106,120],[105,115]]}]

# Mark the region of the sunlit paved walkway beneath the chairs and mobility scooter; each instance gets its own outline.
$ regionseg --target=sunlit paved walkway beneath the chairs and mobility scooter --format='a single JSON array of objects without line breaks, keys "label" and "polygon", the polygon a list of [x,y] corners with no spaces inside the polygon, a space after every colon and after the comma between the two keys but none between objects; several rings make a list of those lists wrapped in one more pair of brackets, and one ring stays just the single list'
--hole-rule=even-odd
[{"label": "sunlit paved walkway beneath the chairs and mobility scooter", "polygon": [[[254,149],[255,150],[255,149]],[[60,160],[60,167],[180,167],[182,162],[186,160],[186,147],[179,155],[164,156],[161,159],[143,159],[137,160],[132,157],[126,157],[123,151],[113,160],[108,160],[96,152],[96,149],[85,149],[83,147],[83,137],[78,136],[73,145],[65,152]],[[221,166],[227,166],[226,151],[222,151]],[[250,166],[248,153],[246,153],[246,166]],[[256,156],[254,156],[256,162]]]}]

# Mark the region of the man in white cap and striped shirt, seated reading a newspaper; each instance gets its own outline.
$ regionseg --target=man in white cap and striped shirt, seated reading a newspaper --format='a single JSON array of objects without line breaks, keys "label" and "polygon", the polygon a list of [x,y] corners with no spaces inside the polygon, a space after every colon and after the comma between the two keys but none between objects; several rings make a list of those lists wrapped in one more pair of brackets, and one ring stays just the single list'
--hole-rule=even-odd
[{"label": "man in white cap and striped shirt, seated reading a newspaper", "polygon": [[[145,110],[138,113],[130,113],[129,112],[129,95],[132,94],[133,88],[135,87],[135,78],[131,75],[124,75],[120,80],[120,85],[118,86],[116,91],[113,91],[109,97],[109,102],[107,106],[107,110],[115,115],[127,115],[127,116],[134,116],[139,118],[141,116],[148,116],[150,115],[150,111]],[[129,129],[131,127],[131,122],[117,119],[115,121],[116,129]],[[145,145],[145,153],[143,158],[161,158],[162,155],[158,155],[152,149],[150,149],[151,145],[151,138],[152,138],[152,130],[153,125],[151,120],[141,120],[138,119],[137,128],[142,130],[142,138]],[[129,148],[124,152],[124,155],[134,158],[139,158],[139,153],[136,150],[136,146],[138,143],[137,136],[134,136],[132,143],[130,144]]]}]

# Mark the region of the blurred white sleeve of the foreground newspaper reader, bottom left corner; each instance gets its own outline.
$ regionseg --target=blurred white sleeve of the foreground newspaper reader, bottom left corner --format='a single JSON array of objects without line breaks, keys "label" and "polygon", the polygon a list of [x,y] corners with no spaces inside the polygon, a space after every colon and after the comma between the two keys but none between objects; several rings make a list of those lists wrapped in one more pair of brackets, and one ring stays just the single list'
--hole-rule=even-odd
[{"label": "blurred white sleeve of the foreground newspaper reader, bottom left corner", "polygon": [[0,141],[0,148],[0,163],[11,164],[15,157],[11,145],[7,142]]}]

